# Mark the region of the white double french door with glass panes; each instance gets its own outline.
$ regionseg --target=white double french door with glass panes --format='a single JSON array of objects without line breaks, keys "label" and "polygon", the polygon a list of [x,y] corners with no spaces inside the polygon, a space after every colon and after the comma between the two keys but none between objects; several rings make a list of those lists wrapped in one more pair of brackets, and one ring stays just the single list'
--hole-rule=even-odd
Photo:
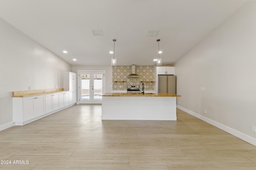
[{"label": "white double french door with glass panes", "polygon": [[101,104],[105,92],[104,71],[80,71],[79,72],[79,103],[80,104]]}]

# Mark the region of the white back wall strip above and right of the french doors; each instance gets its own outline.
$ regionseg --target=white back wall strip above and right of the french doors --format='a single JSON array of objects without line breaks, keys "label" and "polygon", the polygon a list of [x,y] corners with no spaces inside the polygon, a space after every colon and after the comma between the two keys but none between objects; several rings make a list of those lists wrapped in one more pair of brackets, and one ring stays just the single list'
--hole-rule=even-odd
[{"label": "white back wall strip above and right of the french doors", "polygon": [[106,93],[112,90],[112,66],[111,63],[106,66],[72,66],[72,72],[78,73],[78,70],[106,70]]}]

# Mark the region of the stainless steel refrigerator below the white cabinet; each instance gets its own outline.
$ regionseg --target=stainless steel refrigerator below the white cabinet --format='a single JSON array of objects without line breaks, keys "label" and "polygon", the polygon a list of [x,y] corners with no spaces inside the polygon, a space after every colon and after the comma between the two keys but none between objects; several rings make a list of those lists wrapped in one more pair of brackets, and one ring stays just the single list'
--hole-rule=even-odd
[{"label": "stainless steel refrigerator below the white cabinet", "polygon": [[176,76],[158,75],[158,93],[176,94]]}]

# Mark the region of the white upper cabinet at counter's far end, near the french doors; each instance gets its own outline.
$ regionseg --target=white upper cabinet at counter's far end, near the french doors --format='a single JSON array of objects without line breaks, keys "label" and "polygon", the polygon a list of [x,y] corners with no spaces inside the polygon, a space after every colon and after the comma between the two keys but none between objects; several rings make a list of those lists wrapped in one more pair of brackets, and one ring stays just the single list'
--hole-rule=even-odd
[{"label": "white upper cabinet at counter's far end, near the french doors", "polygon": [[63,87],[66,91],[76,90],[76,73],[75,72],[64,72],[63,73]]}]

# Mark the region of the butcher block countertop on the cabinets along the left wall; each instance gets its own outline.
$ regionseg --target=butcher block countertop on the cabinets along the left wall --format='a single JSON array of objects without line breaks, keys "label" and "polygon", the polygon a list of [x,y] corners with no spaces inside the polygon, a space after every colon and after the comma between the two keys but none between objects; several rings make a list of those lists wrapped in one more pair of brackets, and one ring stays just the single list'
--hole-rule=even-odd
[{"label": "butcher block countertop on the cabinets along the left wall", "polygon": [[66,92],[66,91],[64,91],[64,88],[54,88],[54,89],[44,89],[44,90],[26,90],[26,91],[12,92],[12,97],[24,98],[24,97],[39,96],[39,95],[59,93],[59,92]]}]

